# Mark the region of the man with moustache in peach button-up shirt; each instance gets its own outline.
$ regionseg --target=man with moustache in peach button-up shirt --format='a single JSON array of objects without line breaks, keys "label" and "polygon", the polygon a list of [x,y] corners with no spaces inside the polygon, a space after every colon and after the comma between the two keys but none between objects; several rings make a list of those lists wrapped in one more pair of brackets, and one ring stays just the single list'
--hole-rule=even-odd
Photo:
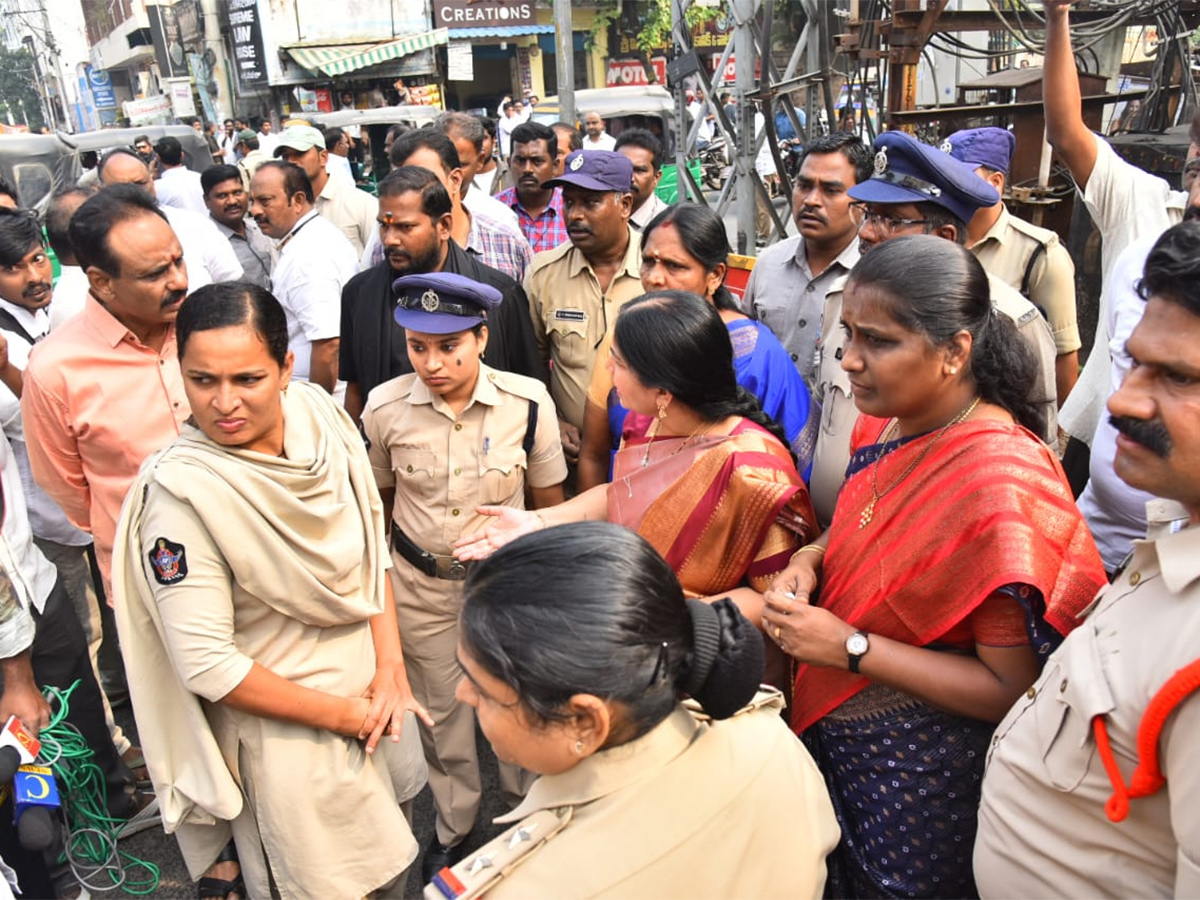
[{"label": "man with moustache in peach button-up shirt", "polygon": [[84,311],[34,348],[20,409],[34,478],[91,532],[113,602],[125,492],[190,414],[174,324],[187,268],[166,217],[132,185],[79,206],[71,242],[90,286]]}]

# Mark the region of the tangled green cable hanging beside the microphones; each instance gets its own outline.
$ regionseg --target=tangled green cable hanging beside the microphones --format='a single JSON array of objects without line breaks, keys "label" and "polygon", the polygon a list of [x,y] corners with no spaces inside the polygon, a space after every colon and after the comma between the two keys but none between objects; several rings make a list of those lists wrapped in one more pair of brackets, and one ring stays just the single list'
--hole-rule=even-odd
[{"label": "tangled green cable hanging beside the microphones", "polygon": [[[104,773],[94,762],[95,754],[88,742],[66,721],[71,692],[76,682],[60,691],[43,688],[47,702],[54,710],[50,724],[42,728],[38,739],[42,752],[38,762],[54,769],[62,788],[62,808],[67,816],[67,864],[78,882],[90,892],[115,890],[127,894],[152,894],[158,888],[160,871],[154,863],[126,853],[118,846],[118,833],[125,820],[108,815]],[[132,872],[144,870],[145,877]]]}]

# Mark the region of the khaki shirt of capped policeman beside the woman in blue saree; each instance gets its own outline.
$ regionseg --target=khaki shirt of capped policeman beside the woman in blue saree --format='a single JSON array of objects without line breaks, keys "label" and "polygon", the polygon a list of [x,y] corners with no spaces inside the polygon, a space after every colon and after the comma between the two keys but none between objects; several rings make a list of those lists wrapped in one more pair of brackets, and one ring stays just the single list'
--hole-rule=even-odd
[{"label": "khaki shirt of capped policeman beside the woman in blue saree", "polygon": [[587,257],[568,241],[533,258],[526,293],[533,314],[533,332],[546,362],[553,362],[550,392],[564,421],[583,427],[583,407],[596,349],[612,330],[620,307],[646,293],[642,289],[642,240],[629,232],[625,259],[608,286],[600,281]]}]

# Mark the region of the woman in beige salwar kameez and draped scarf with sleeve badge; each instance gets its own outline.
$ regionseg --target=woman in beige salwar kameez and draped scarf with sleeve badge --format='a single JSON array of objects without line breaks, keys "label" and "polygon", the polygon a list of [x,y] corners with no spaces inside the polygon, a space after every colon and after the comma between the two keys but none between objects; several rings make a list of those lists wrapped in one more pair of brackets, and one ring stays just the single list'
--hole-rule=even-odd
[{"label": "woman in beige salwar kameez and draped scarf with sleeve badge", "polygon": [[[362,439],[288,385],[282,307],[244,283],[176,322],[192,419],[146,461],[114,559],[138,732],[193,877],[236,844],[245,890],[365,896],[416,856],[425,782]],[[221,857],[224,858],[224,857]],[[216,887],[216,889],[212,889]]]}]

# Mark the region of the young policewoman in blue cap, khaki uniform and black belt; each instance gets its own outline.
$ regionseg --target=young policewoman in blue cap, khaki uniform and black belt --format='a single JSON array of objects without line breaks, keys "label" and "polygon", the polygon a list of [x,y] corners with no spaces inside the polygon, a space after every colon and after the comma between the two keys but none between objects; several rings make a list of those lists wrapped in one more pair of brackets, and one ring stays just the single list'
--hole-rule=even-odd
[{"label": "young policewoman in blue cap, khaki uniform and black belt", "polygon": [[[566,462],[545,385],[481,362],[494,288],[450,272],[395,282],[412,374],[367,397],[362,431],[384,508],[392,510],[391,570],[413,692],[434,725],[422,728],[437,832],[424,870],[452,864],[480,800],[475,721],[455,700],[455,660],[466,568],[450,545],[484,524],[478,506],[562,503]],[[520,772],[502,767],[511,802]],[[427,881],[428,878],[426,878]]]}]

